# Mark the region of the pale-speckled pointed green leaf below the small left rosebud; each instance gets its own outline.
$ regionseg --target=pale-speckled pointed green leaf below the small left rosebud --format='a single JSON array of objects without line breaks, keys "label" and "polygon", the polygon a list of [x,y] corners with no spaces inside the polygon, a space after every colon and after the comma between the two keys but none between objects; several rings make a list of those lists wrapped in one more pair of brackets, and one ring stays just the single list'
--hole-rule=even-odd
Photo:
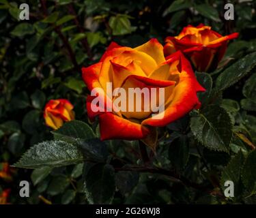
[{"label": "pale-speckled pointed green leaf below the small left rosebud", "polygon": [[62,141],[46,141],[32,146],[14,166],[31,169],[44,166],[57,168],[81,161],[83,155],[76,146]]}]

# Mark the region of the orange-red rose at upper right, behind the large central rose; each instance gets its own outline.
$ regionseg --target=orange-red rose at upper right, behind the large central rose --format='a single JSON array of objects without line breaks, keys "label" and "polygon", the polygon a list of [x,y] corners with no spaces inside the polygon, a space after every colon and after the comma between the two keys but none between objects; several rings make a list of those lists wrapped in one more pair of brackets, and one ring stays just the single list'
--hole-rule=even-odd
[{"label": "orange-red rose at upper right, behind the large central rose", "polygon": [[227,49],[227,42],[236,39],[238,33],[222,36],[203,24],[184,27],[180,35],[167,37],[165,57],[181,50],[199,72],[212,72],[218,66]]}]

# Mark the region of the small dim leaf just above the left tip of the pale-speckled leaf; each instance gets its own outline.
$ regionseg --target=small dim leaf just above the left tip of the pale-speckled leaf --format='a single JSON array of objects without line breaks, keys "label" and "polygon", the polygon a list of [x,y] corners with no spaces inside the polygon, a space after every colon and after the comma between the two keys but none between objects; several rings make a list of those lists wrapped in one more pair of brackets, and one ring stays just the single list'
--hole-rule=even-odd
[{"label": "small dim leaf just above the left tip of the pale-speckled leaf", "polygon": [[23,149],[25,142],[25,134],[20,132],[14,132],[8,140],[8,150],[13,154],[17,155],[21,149]]}]

